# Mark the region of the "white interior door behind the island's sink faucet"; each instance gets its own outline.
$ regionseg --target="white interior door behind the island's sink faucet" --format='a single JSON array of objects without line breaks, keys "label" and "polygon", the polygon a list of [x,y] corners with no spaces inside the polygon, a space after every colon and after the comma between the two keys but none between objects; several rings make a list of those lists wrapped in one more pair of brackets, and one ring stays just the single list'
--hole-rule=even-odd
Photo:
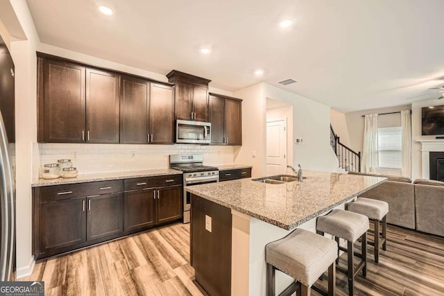
[{"label": "white interior door behind the island's sink faucet", "polygon": [[287,119],[266,123],[266,175],[287,171]]}]

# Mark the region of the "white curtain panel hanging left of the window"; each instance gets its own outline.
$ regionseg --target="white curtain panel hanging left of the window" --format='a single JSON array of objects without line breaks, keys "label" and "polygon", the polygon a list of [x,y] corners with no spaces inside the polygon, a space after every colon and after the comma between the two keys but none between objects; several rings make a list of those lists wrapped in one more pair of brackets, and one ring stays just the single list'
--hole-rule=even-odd
[{"label": "white curtain panel hanging left of the window", "polygon": [[377,168],[377,114],[367,114],[364,118],[362,171],[377,173]]}]

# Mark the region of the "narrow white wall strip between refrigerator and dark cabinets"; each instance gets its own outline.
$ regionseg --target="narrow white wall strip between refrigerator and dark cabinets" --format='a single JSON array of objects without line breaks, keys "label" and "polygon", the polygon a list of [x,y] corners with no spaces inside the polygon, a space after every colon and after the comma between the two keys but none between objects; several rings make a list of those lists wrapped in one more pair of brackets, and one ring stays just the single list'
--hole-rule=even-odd
[{"label": "narrow white wall strip between refrigerator and dark cabinets", "polygon": [[37,60],[39,41],[26,1],[11,1],[26,41],[11,41],[11,55],[15,64],[15,154],[16,154],[16,260],[17,277],[27,275],[33,268],[31,249],[32,226],[32,143],[37,138]]}]

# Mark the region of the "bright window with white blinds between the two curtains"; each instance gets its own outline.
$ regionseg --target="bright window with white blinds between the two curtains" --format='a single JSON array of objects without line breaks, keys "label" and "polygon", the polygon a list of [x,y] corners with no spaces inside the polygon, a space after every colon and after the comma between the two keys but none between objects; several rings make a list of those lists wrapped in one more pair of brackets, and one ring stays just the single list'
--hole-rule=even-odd
[{"label": "bright window with white blinds between the two curtains", "polygon": [[402,128],[378,128],[377,150],[380,168],[402,168]]}]

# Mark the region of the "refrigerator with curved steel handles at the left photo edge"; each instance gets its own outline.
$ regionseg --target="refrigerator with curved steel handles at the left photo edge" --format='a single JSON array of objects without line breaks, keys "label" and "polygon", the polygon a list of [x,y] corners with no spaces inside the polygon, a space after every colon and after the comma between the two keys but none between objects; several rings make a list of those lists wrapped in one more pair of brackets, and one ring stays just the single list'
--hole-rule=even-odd
[{"label": "refrigerator with curved steel handles at the left photo edge", "polygon": [[15,280],[15,68],[0,36],[0,281]]}]

